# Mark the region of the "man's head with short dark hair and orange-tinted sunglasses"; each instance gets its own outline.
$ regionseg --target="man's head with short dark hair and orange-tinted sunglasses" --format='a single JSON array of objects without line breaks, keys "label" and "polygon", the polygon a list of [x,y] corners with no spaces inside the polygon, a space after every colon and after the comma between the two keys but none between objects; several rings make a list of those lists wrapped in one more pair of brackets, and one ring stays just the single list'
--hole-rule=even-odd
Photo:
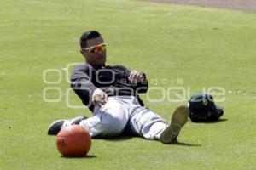
[{"label": "man's head with short dark hair and orange-tinted sunglasses", "polygon": [[86,31],[80,37],[80,53],[90,65],[105,65],[106,44],[98,31]]}]

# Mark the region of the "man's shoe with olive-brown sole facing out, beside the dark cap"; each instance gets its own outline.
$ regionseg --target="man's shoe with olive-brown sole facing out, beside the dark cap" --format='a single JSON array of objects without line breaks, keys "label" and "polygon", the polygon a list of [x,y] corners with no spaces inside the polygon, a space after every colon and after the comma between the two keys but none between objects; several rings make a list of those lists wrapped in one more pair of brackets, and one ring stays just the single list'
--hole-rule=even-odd
[{"label": "man's shoe with olive-brown sole facing out, beside the dark cap", "polygon": [[160,141],[163,144],[172,144],[177,141],[177,136],[188,121],[189,108],[185,105],[177,107],[172,114],[171,124],[160,134]]}]

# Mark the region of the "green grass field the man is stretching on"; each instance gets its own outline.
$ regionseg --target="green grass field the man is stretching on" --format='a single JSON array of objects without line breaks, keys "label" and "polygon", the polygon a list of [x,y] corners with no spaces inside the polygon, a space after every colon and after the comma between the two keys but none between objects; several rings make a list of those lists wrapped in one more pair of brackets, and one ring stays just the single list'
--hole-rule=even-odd
[{"label": "green grass field the man is stretching on", "polygon": [[[255,13],[127,0],[3,0],[0,20],[0,170],[256,169]],[[79,36],[90,29],[108,43],[108,65],[146,72],[151,87],[182,87],[188,96],[224,88],[225,100],[217,103],[224,121],[188,122],[180,144],[93,139],[88,157],[61,157],[46,129],[55,119],[90,116],[67,106],[68,95],[72,105],[81,102],[66,93],[63,69],[84,62]],[[57,70],[60,82],[45,83],[47,69],[55,69],[47,80],[58,80]],[[45,102],[45,88],[47,99],[57,99],[60,88],[60,101]],[[143,100],[167,120],[183,103]]]}]

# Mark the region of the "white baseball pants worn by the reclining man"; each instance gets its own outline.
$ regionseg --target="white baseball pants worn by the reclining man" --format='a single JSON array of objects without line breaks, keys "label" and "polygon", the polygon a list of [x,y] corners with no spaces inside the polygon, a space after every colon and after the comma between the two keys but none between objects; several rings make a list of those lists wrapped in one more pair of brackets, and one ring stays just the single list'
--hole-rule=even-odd
[{"label": "white baseball pants worn by the reclining man", "polygon": [[159,139],[166,121],[141,106],[133,96],[111,96],[101,107],[96,106],[91,116],[79,123],[91,137],[116,136],[125,132],[145,139]]}]

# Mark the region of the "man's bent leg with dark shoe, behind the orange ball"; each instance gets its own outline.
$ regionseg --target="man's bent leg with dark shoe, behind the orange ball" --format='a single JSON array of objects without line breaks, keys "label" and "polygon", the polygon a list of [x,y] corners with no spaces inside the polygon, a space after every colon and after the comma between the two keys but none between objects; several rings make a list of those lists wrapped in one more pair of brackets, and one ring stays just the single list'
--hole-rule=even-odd
[{"label": "man's bent leg with dark shoe, behind the orange ball", "polygon": [[69,120],[58,120],[50,124],[49,135],[56,135],[61,128],[73,124],[84,127],[91,137],[109,137],[122,133],[129,120],[128,110],[123,103],[116,98],[109,97],[105,105],[96,106],[94,116],[89,118],[78,116]]}]

